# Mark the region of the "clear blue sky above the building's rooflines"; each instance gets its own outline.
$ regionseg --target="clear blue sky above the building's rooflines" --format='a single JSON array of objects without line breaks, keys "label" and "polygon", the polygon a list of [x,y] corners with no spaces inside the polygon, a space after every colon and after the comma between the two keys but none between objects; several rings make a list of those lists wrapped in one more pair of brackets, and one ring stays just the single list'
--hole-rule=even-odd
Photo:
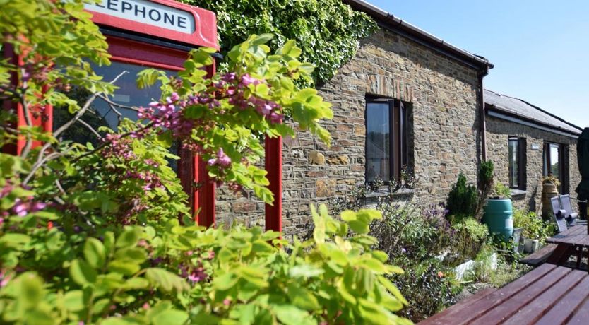
[{"label": "clear blue sky above the building's rooflines", "polygon": [[367,1],[487,57],[485,88],[589,127],[589,1]]}]

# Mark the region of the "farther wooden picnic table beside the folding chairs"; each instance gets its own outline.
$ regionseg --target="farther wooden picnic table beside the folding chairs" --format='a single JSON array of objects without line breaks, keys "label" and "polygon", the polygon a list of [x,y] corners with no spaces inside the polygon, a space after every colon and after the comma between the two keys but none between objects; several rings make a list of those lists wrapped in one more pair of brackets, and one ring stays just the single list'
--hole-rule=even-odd
[{"label": "farther wooden picnic table beside the folding chairs", "polygon": [[589,235],[587,225],[575,225],[564,232],[561,232],[546,240],[547,243],[557,244],[552,255],[547,259],[548,263],[564,265],[569,258],[576,254],[577,268],[581,266],[583,249],[589,251]]}]

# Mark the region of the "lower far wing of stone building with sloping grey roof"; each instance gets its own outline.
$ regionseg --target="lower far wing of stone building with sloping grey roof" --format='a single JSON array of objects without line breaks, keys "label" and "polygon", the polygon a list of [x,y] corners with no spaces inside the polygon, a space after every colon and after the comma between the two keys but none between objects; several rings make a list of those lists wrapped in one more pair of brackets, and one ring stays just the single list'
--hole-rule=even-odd
[{"label": "lower far wing of stone building with sloping grey roof", "polygon": [[484,90],[487,158],[495,179],[511,188],[517,208],[540,209],[542,177],[561,182],[573,194],[581,182],[576,141],[582,129],[524,100]]}]

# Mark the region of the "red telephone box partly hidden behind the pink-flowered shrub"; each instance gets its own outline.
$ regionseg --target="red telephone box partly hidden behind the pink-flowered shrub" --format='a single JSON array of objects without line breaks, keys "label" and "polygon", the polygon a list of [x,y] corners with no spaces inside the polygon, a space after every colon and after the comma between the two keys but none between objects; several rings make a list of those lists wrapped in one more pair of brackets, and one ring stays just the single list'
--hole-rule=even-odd
[{"label": "red telephone box partly hidden behind the pink-flowered shrub", "polygon": [[[146,67],[174,73],[183,69],[188,53],[195,47],[218,49],[215,13],[181,4],[173,0],[102,0],[97,4],[85,4],[85,10],[93,14],[93,22],[107,37],[112,65],[95,66],[98,75],[112,80],[122,71],[116,85],[119,89],[112,101],[124,106],[141,106],[160,98],[157,87],[136,88],[136,73]],[[209,76],[215,73],[215,64],[207,68]],[[133,110],[120,108],[117,112],[106,102],[95,102],[100,121],[111,129],[117,129],[118,119],[136,119]],[[51,107],[46,110],[48,119],[35,122],[46,131],[59,125],[59,112]],[[25,125],[23,110],[18,110],[19,126]],[[25,141],[17,143],[20,154]],[[215,186],[208,179],[206,164],[191,153],[179,150],[177,171],[182,186],[190,196],[191,208],[198,211],[198,224],[215,223]],[[266,170],[270,190],[275,196],[273,206],[266,205],[266,229],[282,230],[282,139],[266,138]],[[201,184],[198,189],[194,184]]]}]

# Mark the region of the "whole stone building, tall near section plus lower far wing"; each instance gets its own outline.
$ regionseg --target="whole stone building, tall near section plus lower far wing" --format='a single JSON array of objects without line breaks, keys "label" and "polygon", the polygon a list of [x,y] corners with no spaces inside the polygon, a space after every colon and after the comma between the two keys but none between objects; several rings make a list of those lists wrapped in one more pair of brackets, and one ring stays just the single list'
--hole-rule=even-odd
[{"label": "whole stone building, tall near section plus lower far wing", "polygon": [[[349,195],[377,177],[398,179],[403,167],[415,173],[419,184],[404,190],[400,199],[424,205],[446,201],[460,172],[475,184],[477,165],[485,158],[494,160],[497,179],[509,184],[513,138],[525,139],[518,140],[518,148],[525,148],[527,159],[527,167],[520,169],[525,176],[518,180],[525,186],[514,196],[517,206],[536,208],[539,202],[545,143],[547,150],[559,145],[562,161],[570,161],[571,175],[578,177],[572,136],[580,131],[537,107],[528,105],[533,113],[523,117],[519,107],[493,102],[498,95],[483,93],[483,77],[493,67],[487,59],[365,1],[344,2],[368,13],[380,28],[361,40],[355,57],[318,88],[333,104],[334,118],[325,123],[332,146],[302,131],[283,139],[282,225],[287,237],[307,231],[309,204]],[[486,114],[484,94],[490,98]],[[567,179],[566,191],[576,182]],[[382,194],[377,190],[371,196]],[[219,191],[217,215],[220,223],[263,225],[264,205],[250,193],[235,197]]]}]

